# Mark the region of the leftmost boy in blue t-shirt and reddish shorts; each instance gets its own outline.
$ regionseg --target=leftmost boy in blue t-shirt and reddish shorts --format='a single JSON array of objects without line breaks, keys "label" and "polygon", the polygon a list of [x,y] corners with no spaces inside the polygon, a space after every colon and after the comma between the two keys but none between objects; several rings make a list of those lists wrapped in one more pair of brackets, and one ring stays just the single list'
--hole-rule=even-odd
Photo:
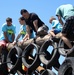
[{"label": "leftmost boy in blue t-shirt and reddish shorts", "polygon": [[0,55],[2,48],[6,46],[7,43],[12,43],[15,39],[16,27],[12,24],[12,18],[6,18],[6,23],[2,25],[2,33],[0,36]]}]

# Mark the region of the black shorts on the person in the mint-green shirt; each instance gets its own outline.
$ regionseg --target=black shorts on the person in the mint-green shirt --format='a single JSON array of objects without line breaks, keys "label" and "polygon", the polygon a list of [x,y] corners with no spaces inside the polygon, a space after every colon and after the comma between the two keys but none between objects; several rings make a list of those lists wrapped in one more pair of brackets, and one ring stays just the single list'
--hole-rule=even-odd
[{"label": "black shorts on the person in the mint-green shirt", "polygon": [[69,35],[73,31],[74,31],[74,16],[71,16],[66,20],[62,33]]}]

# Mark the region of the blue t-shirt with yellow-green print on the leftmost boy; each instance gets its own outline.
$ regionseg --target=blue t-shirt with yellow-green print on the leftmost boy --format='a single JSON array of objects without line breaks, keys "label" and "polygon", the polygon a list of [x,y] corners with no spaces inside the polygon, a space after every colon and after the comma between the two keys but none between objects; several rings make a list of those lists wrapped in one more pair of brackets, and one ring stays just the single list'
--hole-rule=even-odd
[{"label": "blue t-shirt with yellow-green print on the leftmost boy", "polygon": [[6,23],[4,23],[2,25],[2,33],[1,33],[1,36],[0,36],[0,40],[4,40],[5,39],[4,34],[3,34],[4,32],[7,33],[8,40],[10,42],[12,42],[12,34],[16,33],[15,25],[8,26]]}]

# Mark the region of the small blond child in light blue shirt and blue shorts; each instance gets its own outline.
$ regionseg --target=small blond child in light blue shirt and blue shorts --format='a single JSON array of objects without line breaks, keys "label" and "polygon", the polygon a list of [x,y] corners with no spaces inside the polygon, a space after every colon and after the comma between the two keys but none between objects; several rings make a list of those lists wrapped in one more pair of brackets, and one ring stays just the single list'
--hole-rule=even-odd
[{"label": "small blond child in light blue shirt and blue shorts", "polygon": [[63,26],[53,16],[50,18],[49,23],[52,25],[52,29],[49,31],[51,37],[55,37],[56,34],[62,31]]}]

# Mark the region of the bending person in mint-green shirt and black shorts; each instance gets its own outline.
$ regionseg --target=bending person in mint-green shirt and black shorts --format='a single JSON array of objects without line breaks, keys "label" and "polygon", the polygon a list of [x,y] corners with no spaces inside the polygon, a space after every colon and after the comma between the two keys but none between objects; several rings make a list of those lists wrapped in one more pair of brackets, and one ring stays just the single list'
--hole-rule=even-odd
[{"label": "bending person in mint-green shirt and black shorts", "polygon": [[[74,6],[71,4],[59,6],[56,10],[56,16],[58,17],[59,22],[63,25],[60,38],[69,48],[72,48],[67,36],[74,30]],[[62,19],[65,20],[65,23]]]}]

